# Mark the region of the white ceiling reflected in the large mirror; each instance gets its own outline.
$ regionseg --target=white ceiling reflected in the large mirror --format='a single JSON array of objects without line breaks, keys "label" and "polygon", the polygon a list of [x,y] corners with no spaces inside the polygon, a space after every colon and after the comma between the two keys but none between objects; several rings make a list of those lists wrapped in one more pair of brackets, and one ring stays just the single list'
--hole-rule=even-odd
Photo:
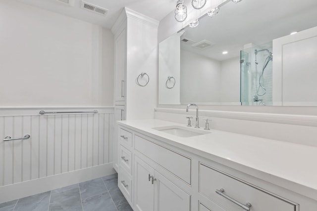
[{"label": "white ceiling reflected in the large mirror", "polygon": [[[238,57],[248,43],[262,45],[273,39],[317,26],[317,0],[229,1],[215,17],[205,16],[196,28],[186,28],[182,38],[193,42],[182,49],[223,61]],[[193,43],[213,43],[204,50]],[[228,54],[223,55],[223,51]]]}]

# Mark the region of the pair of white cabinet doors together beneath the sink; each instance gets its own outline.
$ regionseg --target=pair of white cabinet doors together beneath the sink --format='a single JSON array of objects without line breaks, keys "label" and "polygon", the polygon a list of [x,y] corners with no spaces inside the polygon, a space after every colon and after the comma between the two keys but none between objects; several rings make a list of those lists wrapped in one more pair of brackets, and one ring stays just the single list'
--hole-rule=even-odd
[{"label": "pair of white cabinet doors together beneath the sink", "polygon": [[135,156],[135,211],[190,211],[190,195]]}]

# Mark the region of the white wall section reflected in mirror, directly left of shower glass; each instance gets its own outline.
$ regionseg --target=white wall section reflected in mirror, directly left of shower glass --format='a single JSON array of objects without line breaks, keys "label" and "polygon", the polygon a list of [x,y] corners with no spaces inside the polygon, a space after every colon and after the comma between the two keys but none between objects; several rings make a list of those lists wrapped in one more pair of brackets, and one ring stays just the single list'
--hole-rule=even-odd
[{"label": "white wall section reflected in mirror, directly left of shower glass", "polygon": [[240,57],[221,62],[219,102],[240,102]]}]

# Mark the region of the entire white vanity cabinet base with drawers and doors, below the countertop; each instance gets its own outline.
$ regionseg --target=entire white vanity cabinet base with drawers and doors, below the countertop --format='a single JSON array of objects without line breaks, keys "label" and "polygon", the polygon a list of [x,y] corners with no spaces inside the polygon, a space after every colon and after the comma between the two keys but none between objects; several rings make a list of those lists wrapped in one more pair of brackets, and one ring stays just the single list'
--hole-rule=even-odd
[{"label": "entire white vanity cabinet base with drawers and doors, below the countertop", "polygon": [[118,186],[134,211],[317,211],[309,195],[182,147],[189,139],[178,146],[143,128],[118,127]]}]

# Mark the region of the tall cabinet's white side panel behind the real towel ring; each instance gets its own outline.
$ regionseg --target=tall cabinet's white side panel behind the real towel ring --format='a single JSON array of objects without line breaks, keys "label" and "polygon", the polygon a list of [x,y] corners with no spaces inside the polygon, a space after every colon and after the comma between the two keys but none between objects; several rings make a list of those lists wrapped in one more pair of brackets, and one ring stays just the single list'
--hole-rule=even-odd
[{"label": "tall cabinet's white side panel behind the real towel ring", "polygon": [[[157,105],[158,21],[128,8],[127,13],[127,82],[126,119],[151,119]],[[150,82],[136,83],[146,72]]]}]

